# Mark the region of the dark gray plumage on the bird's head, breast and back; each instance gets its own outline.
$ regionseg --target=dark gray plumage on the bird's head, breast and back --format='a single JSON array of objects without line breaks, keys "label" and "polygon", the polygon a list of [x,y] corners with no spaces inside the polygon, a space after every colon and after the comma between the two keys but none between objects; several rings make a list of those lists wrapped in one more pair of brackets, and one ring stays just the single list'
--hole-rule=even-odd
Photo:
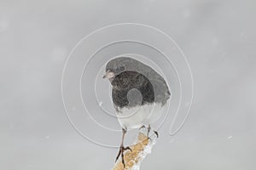
[{"label": "dark gray plumage on the bird's head, breast and back", "polygon": [[170,98],[171,94],[164,78],[136,59],[130,57],[112,59],[108,62],[106,71],[111,71],[115,75],[109,80],[113,86],[113,104],[117,110],[153,102],[165,105]]}]

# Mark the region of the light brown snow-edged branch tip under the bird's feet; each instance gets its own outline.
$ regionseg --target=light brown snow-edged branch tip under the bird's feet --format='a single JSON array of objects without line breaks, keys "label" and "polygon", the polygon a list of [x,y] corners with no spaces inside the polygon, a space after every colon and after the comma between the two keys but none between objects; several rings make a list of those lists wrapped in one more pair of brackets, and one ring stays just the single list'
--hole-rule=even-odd
[{"label": "light brown snow-edged branch tip under the bird's feet", "polygon": [[139,133],[136,144],[130,147],[132,151],[125,151],[125,167],[122,161],[119,160],[113,170],[139,170],[141,162],[151,153],[154,144],[155,139],[148,139],[145,134]]}]

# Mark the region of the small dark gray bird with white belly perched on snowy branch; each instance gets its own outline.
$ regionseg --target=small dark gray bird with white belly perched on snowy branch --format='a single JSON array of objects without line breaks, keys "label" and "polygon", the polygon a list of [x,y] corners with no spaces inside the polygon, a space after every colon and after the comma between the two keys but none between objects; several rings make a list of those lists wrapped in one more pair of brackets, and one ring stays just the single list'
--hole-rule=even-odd
[{"label": "small dark gray bird with white belly perched on snowy branch", "polygon": [[[102,78],[112,85],[113,107],[123,133],[115,161],[121,156],[125,167],[124,152],[131,150],[129,146],[124,147],[125,133],[143,127],[148,127],[149,133],[151,124],[165,113],[171,93],[158,72],[131,56],[110,59]],[[156,131],[154,133],[159,136]]]}]

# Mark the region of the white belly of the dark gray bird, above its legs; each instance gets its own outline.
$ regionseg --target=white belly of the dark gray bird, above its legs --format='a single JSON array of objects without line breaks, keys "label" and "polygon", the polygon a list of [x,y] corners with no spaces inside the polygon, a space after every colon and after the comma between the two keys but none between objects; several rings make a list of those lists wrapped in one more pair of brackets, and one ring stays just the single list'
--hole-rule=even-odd
[{"label": "white belly of the dark gray bird, above its legs", "polygon": [[166,113],[166,105],[141,105],[137,107],[122,108],[117,113],[119,123],[124,128],[139,128],[156,122]]}]

